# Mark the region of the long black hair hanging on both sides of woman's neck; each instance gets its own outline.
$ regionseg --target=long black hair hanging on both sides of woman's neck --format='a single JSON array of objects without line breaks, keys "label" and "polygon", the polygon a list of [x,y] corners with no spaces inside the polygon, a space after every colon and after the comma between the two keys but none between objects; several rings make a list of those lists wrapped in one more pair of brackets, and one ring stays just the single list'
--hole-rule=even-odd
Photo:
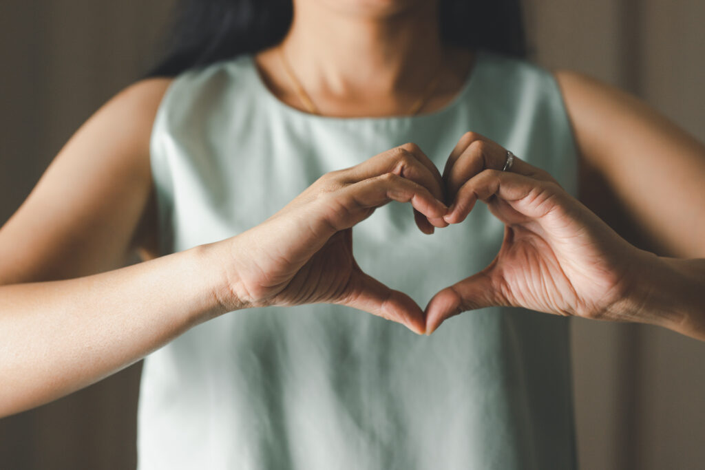
[{"label": "long black hair hanging on both sides of woman's neck", "polygon": [[[440,0],[439,17],[441,36],[451,44],[527,54],[520,0]],[[178,0],[164,53],[142,78],[173,77],[273,46],[292,18],[292,0]]]}]

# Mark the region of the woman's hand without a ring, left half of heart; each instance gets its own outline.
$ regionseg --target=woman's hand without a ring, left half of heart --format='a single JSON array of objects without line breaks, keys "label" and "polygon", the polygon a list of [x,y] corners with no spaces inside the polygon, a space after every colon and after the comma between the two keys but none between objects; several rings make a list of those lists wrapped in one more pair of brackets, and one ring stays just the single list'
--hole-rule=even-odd
[{"label": "woman's hand without a ring, left half of heart", "polygon": [[424,233],[443,221],[443,183],[415,144],[326,173],[263,223],[231,242],[228,310],[326,302],[368,311],[424,333],[422,309],[365,274],[353,257],[352,227],[391,201],[410,202]]}]

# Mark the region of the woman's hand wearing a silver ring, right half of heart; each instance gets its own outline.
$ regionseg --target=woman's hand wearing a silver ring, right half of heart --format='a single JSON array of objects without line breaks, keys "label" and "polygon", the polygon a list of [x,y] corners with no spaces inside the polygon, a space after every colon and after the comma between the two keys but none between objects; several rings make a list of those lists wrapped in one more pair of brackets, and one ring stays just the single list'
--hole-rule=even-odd
[{"label": "woman's hand wearing a silver ring, right half of heart", "polygon": [[635,318],[644,287],[639,276],[653,254],[630,245],[546,171],[472,132],[458,142],[443,171],[444,219],[461,223],[480,199],[505,224],[494,261],[438,292],[426,307],[427,334],[448,317],[491,306],[525,307],[590,319]]}]

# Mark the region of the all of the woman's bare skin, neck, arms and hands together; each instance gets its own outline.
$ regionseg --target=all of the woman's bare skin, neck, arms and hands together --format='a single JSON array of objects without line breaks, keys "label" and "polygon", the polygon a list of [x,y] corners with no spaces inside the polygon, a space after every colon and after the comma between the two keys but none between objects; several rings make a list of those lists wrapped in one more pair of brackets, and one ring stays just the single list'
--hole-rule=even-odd
[{"label": "all of the woman's bare skin, neck, arms and hands together", "polygon": [[[404,113],[438,70],[422,112],[447,104],[473,54],[443,49],[429,5],[295,1],[282,46],[321,113]],[[256,56],[263,80],[303,109],[274,52]],[[626,242],[589,209],[594,200],[573,199],[539,168],[518,159],[499,171],[504,149],[468,132],[443,173],[405,144],[321,175],[250,230],[157,258],[149,132],[170,80],[124,89],[71,137],[0,229],[0,416],[99,381],[199,323],[263,305],[344,304],[417,333],[462,311],[510,305],[705,339],[705,148],[613,87],[565,71],[556,79],[582,168],[591,168],[583,186],[595,192],[589,175],[602,175],[639,230],[673,257]],[[429,234],[462,223],[479,200],[505,223],[503,247],[422,309],[360,271],[350,249],[354,225],[393,200],[409,202]],[[145,261],[123,267],[135,250]]]}]

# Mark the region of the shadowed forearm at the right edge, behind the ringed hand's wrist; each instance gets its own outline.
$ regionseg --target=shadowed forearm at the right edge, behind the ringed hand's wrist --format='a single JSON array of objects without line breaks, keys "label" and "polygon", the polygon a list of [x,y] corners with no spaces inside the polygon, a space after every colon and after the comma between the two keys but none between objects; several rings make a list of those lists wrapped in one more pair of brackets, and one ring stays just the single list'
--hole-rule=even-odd
[{"label": "shadowed forearm at the right edge, behind the ringed hand's wrist", "polygon": [[645,256],[630,316],[705,340],[705,259]]}]

